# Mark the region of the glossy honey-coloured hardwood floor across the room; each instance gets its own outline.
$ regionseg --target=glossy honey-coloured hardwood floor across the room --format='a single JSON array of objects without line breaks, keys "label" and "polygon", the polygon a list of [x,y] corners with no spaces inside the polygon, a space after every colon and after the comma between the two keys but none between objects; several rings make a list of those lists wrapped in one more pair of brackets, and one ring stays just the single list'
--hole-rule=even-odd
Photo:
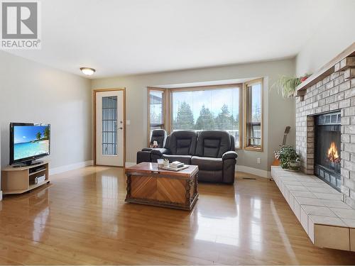
[{"label": "glossy honey-coloured hardwood floor across the room", "polygon": [[317,248],[274,182],[200,184],[191,212],[128,204],[123,170],[86,167],[0,201],[0,264],[354,264]]}]

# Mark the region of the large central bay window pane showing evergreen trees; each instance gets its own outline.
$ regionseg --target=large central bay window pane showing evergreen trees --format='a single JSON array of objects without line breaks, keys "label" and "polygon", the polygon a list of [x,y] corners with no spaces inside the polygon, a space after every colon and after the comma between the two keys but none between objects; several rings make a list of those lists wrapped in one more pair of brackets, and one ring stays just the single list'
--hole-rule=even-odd
[{"label": "large central bay window pane showing evergreen trees", "polygon": [[224,130],[239,141],[241,84],[170,89],[170,130]]}]

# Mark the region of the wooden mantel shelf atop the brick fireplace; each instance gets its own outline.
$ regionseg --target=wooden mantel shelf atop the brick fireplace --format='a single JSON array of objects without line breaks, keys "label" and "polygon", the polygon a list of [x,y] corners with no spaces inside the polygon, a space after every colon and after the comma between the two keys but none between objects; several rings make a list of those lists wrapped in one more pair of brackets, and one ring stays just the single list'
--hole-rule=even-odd
[{"label": "wooden mantel shelf atop the brick fireplace", "polygon": [[[322,81],[325,77],[333,74],[334,72],[344,71],[349,67],[354,67],[353,70],[355,72],[355,60],[349,61],[348,64],[342,65],[341,62],[344,63],[344,60],[349,57],[355,58],[355,43],[350,45],[346,50],[341,52],[337,57],[324,65],[320,70],[313,73],[310,77],[308,77],[305,82],[302,82],[300,85],[296,87],[295,96],[300,96],[300,100],[303,101],[303,96],[305,95],[305,91],[307,88],[312,87],[313,85],[317,84],[317,82]],[[351,77],[350,77],[351,78]]]}]

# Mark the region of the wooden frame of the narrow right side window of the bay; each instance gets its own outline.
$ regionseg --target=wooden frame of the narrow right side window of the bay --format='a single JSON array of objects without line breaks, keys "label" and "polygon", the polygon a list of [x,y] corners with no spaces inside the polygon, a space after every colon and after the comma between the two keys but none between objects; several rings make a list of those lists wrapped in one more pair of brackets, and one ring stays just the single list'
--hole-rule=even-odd
[{"label": "wooden frame of the narrow right side window of the bay", "polygon": [[[248,87],[251,84],[261,84],[261,122],[260,122],[260,147],[255,147],[251,145],[247,145],[247,109],[249,108],[248,103]],[[263,152],[263,78],[253,79],[249,82],[244,83],[244,150],[253,150],[257,152]]]}]

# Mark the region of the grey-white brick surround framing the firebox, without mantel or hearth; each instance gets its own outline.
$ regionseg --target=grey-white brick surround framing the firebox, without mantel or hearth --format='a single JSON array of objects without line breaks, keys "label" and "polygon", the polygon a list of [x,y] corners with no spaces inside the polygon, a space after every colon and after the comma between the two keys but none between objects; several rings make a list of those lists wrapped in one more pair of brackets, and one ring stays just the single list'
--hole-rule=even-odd
[{"label": "grey-white brick surround framing the firebox, without mantel or hearth", "polygon": [[[315,116],[340,111],[342,200],[355,209],[355,79],[334,72],[296,99],[296,150],[302,170],[315,173]],[[355,218],[355,217],[354,217]]]}]

